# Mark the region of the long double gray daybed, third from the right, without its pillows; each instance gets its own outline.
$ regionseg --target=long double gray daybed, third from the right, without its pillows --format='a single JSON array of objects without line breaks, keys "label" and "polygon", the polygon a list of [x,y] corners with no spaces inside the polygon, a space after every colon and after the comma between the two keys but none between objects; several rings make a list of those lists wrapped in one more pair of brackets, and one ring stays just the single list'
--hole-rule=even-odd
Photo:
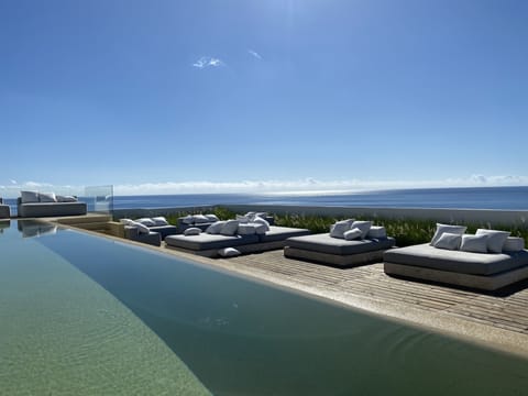
[{"label": "long double gray daybed, third from the right, without its pillows", "polygon": [[216,257],[219,255],[218,251],[224,248],[235,248],[241,253],[283,249],[287,238],[309,233],[310,231],[305,229],[270,226],[270,230],[264,234],[223,235],[201,232],[198,235],[168,235],[165,243],[170,249]]}]

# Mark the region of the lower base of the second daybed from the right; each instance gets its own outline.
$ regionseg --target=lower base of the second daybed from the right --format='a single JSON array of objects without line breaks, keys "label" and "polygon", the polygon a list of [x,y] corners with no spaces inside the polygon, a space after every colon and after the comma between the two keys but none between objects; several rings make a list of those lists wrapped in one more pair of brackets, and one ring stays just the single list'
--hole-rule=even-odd
[{"label": "lower base of the second daybed from the right", "polygon": [[298,249],[286,246],[284,248],[284,256],[288,258],[300,258],[311,261],[320,264],[331,266],[350,267],[372,263],[381,263],[383,261],[383,253],[385,250],[377,250],[372,252],[356,253],[356,254],[331,254],[315,252],[306,249]]}]

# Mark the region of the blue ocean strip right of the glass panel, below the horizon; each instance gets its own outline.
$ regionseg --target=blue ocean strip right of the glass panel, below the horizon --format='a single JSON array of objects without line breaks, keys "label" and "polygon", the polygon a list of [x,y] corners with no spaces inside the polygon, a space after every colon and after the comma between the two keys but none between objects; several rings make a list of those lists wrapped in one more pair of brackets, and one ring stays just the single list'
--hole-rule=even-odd
[{"label": "blue ocean strip right of the glass panel, below the horizon", "polygon": [[424,188],[312,195],[184,194],[114,196],[113,208],[154,209],[202,207],[222,204],[528,210],[528,186]]}]

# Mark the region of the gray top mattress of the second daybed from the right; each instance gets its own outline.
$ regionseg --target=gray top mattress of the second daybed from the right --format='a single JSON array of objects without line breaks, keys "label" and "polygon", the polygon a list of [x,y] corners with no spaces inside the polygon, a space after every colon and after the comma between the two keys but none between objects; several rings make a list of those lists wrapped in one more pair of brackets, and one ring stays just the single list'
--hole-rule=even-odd
[{"label": "gray top mattress of the second daybed from the right", "polygon": [[332,238],[328,233],[294,237],[288,238],[286,241],[286,245],[290,248],[339,255],[373,252],[377,250],[389,249],[394,246],[394,238],[345,241],[344,239]]}]

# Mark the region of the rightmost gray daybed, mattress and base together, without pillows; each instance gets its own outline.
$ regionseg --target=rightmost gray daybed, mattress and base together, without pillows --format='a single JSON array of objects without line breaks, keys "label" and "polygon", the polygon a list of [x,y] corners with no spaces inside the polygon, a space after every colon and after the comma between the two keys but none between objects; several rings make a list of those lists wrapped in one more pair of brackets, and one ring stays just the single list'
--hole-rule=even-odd
[{"label": "rightmost gray daybed, mattress and base together, without pillows", "polygon": [[473,253],[429,243],[393,249],[383,255],[388,275],[495,290],[528,278],[528,251]]}]

